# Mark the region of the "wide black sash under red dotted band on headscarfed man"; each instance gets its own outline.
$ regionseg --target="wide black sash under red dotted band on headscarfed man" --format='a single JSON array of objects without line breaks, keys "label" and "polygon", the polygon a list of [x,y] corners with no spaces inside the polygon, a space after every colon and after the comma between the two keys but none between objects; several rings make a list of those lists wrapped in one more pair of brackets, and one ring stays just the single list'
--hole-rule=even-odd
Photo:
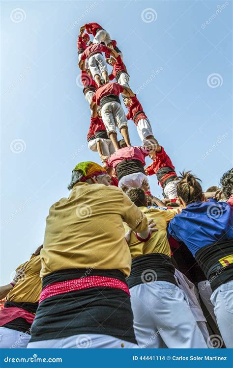
[{"label": "wide black sash under red dotted band on headscarfed man", "polygon": [[[119,270],[66,269],[45,276],[43,288],[53,282],[92,275],[126,282]],[[94,287],[51,296],[40,303],[31,328],[31,342],[77,334],[104,334],[137,343],[130,296],[121,289]]]}]

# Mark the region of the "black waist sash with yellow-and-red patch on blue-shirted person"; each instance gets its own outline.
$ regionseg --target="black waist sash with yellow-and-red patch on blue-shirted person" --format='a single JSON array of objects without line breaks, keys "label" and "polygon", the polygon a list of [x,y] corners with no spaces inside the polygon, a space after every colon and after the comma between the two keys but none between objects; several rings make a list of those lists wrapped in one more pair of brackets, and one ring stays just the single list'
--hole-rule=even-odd
[{"label": "black waist sash with yellow-and-red patch on blue-shirted person", "polygon": [[213,291],[233,280],[233,263],[228,261],[228,256],[232,254],[233,239],[217,241],[199,249],[195,254]]}]

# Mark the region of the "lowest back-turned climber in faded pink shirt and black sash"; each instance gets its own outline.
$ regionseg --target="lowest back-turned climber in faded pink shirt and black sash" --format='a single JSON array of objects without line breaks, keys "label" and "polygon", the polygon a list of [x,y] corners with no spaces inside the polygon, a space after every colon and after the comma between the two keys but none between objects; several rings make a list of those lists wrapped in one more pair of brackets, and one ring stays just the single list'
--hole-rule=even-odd
[{"label": "lowest back-turned climber in faded pink shirt and black sash", "polygon": [[149,183],[144,170],[145,158],[149,155],[149,150],[145,147],[127,147],[125,141],[121,139],[119,149],[109,158],[105,158],[104,167],[113,167],[116,170],[118,186],[131,188],[141,187],[146,181],[148,190]]}]

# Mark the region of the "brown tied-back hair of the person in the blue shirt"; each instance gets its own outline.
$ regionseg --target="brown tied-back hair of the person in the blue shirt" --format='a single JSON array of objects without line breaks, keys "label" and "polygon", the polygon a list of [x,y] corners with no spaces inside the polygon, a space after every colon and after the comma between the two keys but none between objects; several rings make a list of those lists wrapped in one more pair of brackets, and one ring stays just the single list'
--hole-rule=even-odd
[{"label": "brown tied-back hair of the person in the blue shirt", "polygon": [[180,173],[180,181],[176,185],[177,196],[180,197],[187,205],[190,203],[202,201],[203,191],[202,186],[195,175],[190,171]]}]

